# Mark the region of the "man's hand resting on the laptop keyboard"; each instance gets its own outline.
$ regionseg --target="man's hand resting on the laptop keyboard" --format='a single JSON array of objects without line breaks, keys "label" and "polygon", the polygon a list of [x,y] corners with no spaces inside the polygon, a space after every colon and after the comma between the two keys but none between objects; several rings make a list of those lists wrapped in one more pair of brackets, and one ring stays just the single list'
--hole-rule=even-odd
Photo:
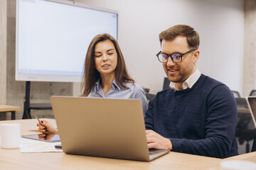
[{"label": "man's hand resting on the laptop keyboard", "polygon": [[154,132],[153,130],[146,130],[146,140],[148,142],[149,148],[155,149],[166,149],[171,150],[171,140],[166,137],[162,137],[158,133]]}]

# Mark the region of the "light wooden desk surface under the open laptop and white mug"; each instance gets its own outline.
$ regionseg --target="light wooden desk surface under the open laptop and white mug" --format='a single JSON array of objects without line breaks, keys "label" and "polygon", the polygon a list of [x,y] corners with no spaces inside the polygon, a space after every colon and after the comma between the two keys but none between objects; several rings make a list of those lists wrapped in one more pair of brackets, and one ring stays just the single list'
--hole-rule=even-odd
[{"label": "light wooden desk surface under the open laptop and white mug", "polygon": [[[53,125],[55,120],[46,119]],[[21,135],[36,134],[36,120],[5,120],[1,123],[21,123]],[[248,155],[248,154],[247,154]],[[251,155],[233,157],[253,159]],[[254,154],[256,156],[256,154]],[[256,157],[255,157],[256,159]],[[0,167],[3,169],[218,169],[223,159],[193,154],[169,152],[152,162],[86,157],[58,153],[21,153],[19,149],[0,149]],[[252,161],[252,160],[251,160]]]}]

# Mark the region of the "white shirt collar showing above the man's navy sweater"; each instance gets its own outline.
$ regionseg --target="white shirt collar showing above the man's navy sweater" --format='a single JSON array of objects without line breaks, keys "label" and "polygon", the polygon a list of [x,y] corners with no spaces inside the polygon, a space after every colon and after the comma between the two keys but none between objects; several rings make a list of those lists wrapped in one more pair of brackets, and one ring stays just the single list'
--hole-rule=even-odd
[{"label": "white shirt collar showing above the man's navy sweater", "polygon": [[[199,71],[199,69],[196,69],[196,72],[194,72],[190,77],[188,77],[188,79],[186,79],[186,81],[183,82],[183,84],[182,84],[183,90],[188,89],[188,88],[191,89],[191,87],[196,83],[196,81],[198,81],[200,76],[201,76],[201,72]],[[178,89],[175,86],[174,82],[172,82],[172,81],[170,82],[169,87],[176,91],[181,91],[180,89]]]}]

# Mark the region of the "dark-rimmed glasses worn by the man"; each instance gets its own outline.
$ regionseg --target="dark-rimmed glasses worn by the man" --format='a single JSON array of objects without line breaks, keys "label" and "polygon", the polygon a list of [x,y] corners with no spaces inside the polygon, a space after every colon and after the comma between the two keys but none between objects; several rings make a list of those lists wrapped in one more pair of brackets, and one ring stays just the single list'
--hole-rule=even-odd
[{"label": "dark-rimmed glasses worn by the man", "polygon": [[175,63],[181,62],[182,61],[182,56],[188,54],[189,52],[193,52],[195,50],[189,50],[188,52],[185,52],[183,54],[178,53],[178,52],[174,52],[171,55],[167,55],[164,53],[161,53],[161,51],[159,53],[157,53],[157,58],[159,59],[159,62],[165,63],[168,61],[169,56],[171,57],[171,60]]}]

